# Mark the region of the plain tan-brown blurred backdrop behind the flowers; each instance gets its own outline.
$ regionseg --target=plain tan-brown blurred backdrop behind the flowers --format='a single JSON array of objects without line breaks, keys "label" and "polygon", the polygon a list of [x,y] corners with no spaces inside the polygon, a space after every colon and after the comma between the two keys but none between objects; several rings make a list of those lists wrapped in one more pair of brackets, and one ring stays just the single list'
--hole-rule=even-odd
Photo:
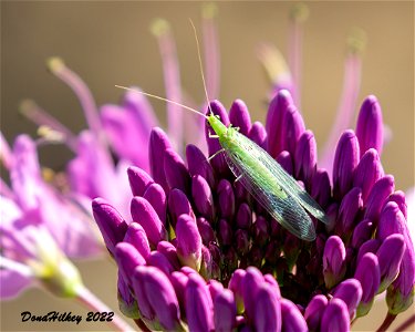
[{"label": "plain tan-brown blurred backdrop behind the flowers", "polygon": [[[287,54],[289,10],[293,2],[219,2],[217,20],[220,56],[220,100],[229,107],[242,98],[253,120],[263,121],[269,85],[255,55],[255,46],[271,41]],[[351,28],[366,31],[363,80],[359,103],[375,94],[393,139],[382,156],[396,187],[414,184],[414,3],[411,1],[308,2],[304,25],[302,112],[308,128],[322,147],[334,118],[343,81],[345,40]],[[77,100],[45,70],[44,61],[59,55],[90,86],[98,105],[115,103],[122,91],[114,84],[139,85],[164,95],[158,46],[148,25],[167,19],[177,42],[184,87],[203,101],[191,18],[200,27],[201,2],[51,1],[1,2],[1,131],[9,142],[21,132],[35,136],[35,127],[18,113],[22,98],[33,98],[70,128],[85,126]],[[153,103],[165,124],[165,105]],[[355,118],[355,117],[354,117]],[[353,122],[354,127],[354,122]],[[42,163],[62,168],[69,152],[61,146],[40,152]],[[116,308],[115,268],[108,261],[79,264],[85,283]],[[105,330],[92,324],[23,324],[20,312],[72,311],[86,315],[71,301],[55,300],[32,290],[20,299],[1,303],[1,328],[8,330]],[[385,308],[374,310],[353,326],[374,330]],[[414,309],[414,308],[412,308]],[[408,312],[405,313],[408,317]],[[398,317],[393,326],[404,321]]]}]

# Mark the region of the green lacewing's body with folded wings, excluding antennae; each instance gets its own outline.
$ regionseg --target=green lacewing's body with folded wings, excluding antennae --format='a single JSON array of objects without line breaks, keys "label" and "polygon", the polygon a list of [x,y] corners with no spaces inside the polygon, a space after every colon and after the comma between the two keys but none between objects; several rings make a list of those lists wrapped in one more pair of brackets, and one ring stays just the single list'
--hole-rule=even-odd
[{"label": "green lacewing's body with folded wings, excluding antennae", "polygon": [[329,224],[319,204],[255,142],[226,127],[212,114],[207,121],[219,138],[229,168],[252,197],[290,232],[307,241],[314,240],[314,225],[307,211]]}]

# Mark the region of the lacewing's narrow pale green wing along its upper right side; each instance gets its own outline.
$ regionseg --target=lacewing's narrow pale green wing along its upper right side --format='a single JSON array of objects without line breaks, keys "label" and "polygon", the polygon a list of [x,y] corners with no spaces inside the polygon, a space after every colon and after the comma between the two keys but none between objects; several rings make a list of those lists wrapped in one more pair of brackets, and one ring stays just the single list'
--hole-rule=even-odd
[{"label": "lacewing's narrow pale green wing along its upper right side", "polygon": [[[235,132],[237,142],[243,145],[243,148],[258,160],[264,168],[269,169],[270,173],[276,177],[281,188],[294,198],[310,215],[319,219],[324,224],[329,224],[330,220],[324,214],[320,205],[297,183],[297,180],[289,175],[280,164],[278,164],[264,149],[258,146],[255,142],[250,141],[246,136]],[[242,166],[243,167],[243,166]]]}]

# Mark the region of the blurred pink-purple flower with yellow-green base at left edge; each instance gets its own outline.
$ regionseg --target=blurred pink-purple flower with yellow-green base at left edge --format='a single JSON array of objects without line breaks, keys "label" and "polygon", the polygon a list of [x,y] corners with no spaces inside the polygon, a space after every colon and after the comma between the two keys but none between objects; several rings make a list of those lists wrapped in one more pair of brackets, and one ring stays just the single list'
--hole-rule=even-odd
[{"label": "blurred pink-purple flower with yellow-green base at left edge", "polygon": [[72,271],[68,278],[74,283],[80,277],[66,256],[96,257],[103,249],[92,216],[43,179],[35,142],[20,135],[12,149],[2,144],[11,188],[2,181],[1,298],[13,298],[35,281],[55,282],[56,292],[69,292],[60,284],[65,282],[62,269]]}]

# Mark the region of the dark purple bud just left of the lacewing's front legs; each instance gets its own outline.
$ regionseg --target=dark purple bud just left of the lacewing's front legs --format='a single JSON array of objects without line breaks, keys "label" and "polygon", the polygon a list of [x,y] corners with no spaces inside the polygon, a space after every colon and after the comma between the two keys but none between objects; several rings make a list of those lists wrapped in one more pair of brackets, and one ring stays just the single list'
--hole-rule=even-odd
[{"label": "dark purple bud just left of the lacewing's front legs", "polygon": [[186,146],[186,159],[191,176],[200,175],[215,188],[215,173],[204,153],[195,145]]}]

